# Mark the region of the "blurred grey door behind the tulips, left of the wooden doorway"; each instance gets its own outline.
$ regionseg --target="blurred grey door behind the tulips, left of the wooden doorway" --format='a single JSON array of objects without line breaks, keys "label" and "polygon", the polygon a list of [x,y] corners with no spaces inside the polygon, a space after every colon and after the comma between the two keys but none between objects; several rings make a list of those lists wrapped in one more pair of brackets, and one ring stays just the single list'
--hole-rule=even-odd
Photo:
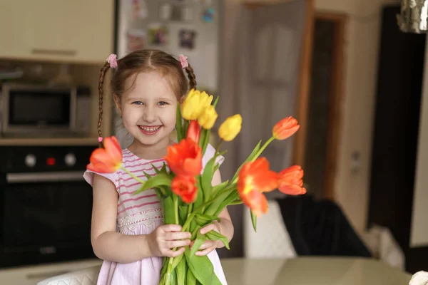
[{"label": "blurred grey door behind the tulips, left of the wooden doorway", "polygon": [[[226,1],[228,2],[228,1]],[[232,1],[229,1],[232,2]],[[280,4],[234,4],[225,7],[222,68],[220,77],[219,121],[240,113],[243,129],[233,142],[225,143],[228,154],[220,170],[230,179],[259,140],[272,135],[272,127],[288,115],[296,115],[302,70],[304,33],[313,21],[313,1]],[[309,17],[309,20],[308,20]],[[303,66],[305,72],[307,68]],[[292,163],[293,140],[275,141],[263,156],[274,170]],[[273,198],[278,192],[268,193]],[[242,257],[243,219],[250,219],[242,205],[228,207],[235,227],[230,251],[220,249],[220,257]],[[269,232],[258,232],[269,236]]]}]

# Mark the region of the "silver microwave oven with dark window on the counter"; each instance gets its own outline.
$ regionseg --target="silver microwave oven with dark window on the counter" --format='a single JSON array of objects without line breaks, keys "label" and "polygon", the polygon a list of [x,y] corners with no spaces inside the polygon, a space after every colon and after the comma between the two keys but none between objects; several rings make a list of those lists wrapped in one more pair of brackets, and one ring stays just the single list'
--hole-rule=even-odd
[{"label": "silver microwave oven with dark window on the counter", "polygon": [[83,86],[4,83],[0,92],[3,136],[87,137],[91,91]]}]

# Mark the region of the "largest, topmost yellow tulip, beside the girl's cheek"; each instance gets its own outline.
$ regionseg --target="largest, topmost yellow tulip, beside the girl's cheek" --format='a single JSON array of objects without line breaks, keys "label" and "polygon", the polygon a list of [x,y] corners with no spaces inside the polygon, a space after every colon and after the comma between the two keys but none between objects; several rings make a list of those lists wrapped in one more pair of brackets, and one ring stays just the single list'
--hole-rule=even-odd
[{"label": "largest, topmost yellow tulip, beside the girl's cheek", "polygon": [[181,115],[185,120],[198,120],[203,110],[208,108],[211,102],[213,102],[213,95],[192,89],[183,102]]}]

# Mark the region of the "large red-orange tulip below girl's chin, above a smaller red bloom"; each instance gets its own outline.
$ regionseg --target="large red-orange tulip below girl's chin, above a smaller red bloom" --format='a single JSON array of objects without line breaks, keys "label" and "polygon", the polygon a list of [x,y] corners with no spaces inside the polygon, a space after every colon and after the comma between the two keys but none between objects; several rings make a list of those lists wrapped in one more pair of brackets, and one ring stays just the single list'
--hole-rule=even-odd
[{"label": "large red-orange tulip below girl's chin, above a smaller red bloom", "polygon": [[195,176],[202,170],[202,150],[198,143],[184,138],[175,145],[168,146],[164,157],[175,175]]}]

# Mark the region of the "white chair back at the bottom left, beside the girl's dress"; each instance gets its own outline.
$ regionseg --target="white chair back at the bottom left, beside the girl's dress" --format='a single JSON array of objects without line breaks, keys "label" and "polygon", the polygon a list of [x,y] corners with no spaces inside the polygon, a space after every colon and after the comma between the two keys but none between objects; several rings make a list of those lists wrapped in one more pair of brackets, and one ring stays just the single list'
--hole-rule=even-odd
[{"label": "white chair back at the bottom left, beside the girl's dress", "polygon": [[100,269],[99,265],[91,266],[39,281],[37,285],[93,285],[96,284]]}]

